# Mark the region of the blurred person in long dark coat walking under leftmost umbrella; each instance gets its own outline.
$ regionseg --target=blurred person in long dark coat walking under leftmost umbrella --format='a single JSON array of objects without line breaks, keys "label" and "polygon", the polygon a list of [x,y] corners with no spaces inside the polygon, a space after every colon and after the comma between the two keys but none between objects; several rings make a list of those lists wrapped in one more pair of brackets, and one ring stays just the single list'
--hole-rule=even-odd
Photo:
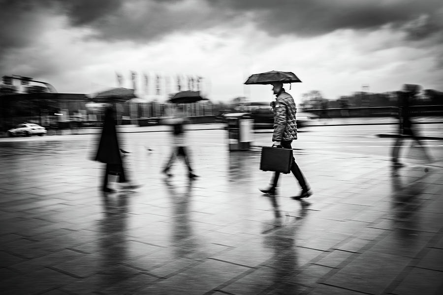
[{"label": "blurred person in long dark coat walking under leftmost umbrella", "polygon": [[109,174],[118,175],[119,182],[126,182],[125,170],[123,168],[122,156],[120,154],[119,141],[112,108],[107,108],[103,122],[103,130],[98,144],[95,161],[106,163],[106,171],[103,179],[102,191],[113,192],[108,187]]}]

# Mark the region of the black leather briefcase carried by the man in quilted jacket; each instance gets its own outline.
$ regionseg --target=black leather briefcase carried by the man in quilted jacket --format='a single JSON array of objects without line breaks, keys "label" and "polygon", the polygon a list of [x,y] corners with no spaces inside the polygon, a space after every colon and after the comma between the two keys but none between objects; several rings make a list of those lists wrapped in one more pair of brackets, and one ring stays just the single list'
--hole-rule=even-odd
[{"label": "black leather briefcase carried by the man in quilted jacket", "polygon": [[291,172],[292,149],[262,147],[260,170],[288,174]]}]

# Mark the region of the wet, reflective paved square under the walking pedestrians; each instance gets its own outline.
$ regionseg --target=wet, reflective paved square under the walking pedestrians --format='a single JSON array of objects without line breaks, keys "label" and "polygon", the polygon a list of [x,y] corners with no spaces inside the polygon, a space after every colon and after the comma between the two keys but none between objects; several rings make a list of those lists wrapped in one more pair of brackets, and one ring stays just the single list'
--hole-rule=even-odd
[{"label": "wet, reflective paved square under the walking pedestrians", "polygon": [[1,293],[443,293],[442,157],[393,169],[370,152],[296,149],[314,195],[295,201],[291,175],[262,195],[260,149],[229,152],[214,129],[206,144],[191,136],[194,181],[180,162],[159,174],[166,133],[127,137],[144,185],[113,194],[98,189],[92,135],[0,141]]}]

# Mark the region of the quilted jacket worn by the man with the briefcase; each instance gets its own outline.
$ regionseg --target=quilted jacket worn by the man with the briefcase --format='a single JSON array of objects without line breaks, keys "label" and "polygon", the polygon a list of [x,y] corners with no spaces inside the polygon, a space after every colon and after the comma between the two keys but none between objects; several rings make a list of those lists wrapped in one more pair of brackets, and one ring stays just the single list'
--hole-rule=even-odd
[{"label": "quilted jacket worn by the man with the briefcase", "polygon": [[297,121],[295,106],[292,96],[282,89],[276,97],[274,108],[274,134],[272,141],[290,141],[297,139]]}]

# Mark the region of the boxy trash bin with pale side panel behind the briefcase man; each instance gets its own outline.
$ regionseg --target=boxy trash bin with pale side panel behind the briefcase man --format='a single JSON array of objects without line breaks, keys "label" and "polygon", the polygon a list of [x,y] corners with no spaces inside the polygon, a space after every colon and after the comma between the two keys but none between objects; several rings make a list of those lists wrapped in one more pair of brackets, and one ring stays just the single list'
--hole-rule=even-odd
[{"label": "boxy trash bin with pale side panel behind the briefcase man", "polygon": [[249,150],[253,142],[253,123],[249,113],[225,114],[229,151]]}]

